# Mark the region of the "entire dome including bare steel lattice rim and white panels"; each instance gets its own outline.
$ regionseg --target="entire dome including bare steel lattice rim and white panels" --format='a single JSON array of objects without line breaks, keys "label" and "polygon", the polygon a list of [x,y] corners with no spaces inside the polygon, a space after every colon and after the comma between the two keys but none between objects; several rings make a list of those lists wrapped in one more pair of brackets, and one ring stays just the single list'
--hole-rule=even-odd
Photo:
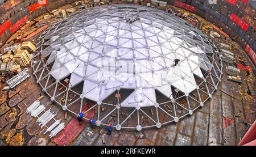
[{"label": "entire dome including bare steel lattice rim and white panels", "polygon": [[221,58],[204,33],[143,6],[77,12],[43,32],[38,47],[32,67],[51,100],[76,115],[93,100],[84,114],[97,111],[98,126],[112,122],[117,130],[177,122],[203,107],[221,81]]}]

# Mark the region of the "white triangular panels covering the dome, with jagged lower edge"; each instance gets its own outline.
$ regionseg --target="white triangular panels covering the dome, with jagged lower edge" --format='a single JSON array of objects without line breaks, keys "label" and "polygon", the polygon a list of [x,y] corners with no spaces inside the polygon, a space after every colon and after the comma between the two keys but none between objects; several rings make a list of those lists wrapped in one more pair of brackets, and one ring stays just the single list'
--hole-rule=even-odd
[{"label": "white triangular panels covering the dome, with jagged lower edge", "polygon": [[[130,23],[125,16],[138,12]],[[48,40],[48,41],[46,41]],[[54,62],[56,80],[71,75],[69,87],[84,81],[82,97],[102,101],[116,87],[135,89],[123,106],[154,105],[155,90],[167,97],[171,86],[184,94],[196,89],[194,75],[210,71],[212,43],[184,20],[145,7],[101,7],[64,20],[44,36],[42,50]],[[174,60],[180,62],[174,66]]]}]

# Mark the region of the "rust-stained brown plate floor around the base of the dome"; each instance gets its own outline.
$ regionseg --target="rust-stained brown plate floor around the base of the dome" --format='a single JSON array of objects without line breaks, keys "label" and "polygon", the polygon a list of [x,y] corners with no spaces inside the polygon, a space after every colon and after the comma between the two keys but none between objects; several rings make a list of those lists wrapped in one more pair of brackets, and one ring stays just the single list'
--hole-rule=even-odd
[{"label": "rust-stained brown plate floor around the base of the dome", "polygon": [[[216,45],[232,43],[229,39],[225,40],[224,35],[212,40]],[[255,66],[242,48],[236,43],[234,45],[236,62],[243,62],[255,71]],[[225,73],[228,63],[223,62],[223,65],[221,83],[212,99],[192,116],[183,118],[177,124],[142,131],[114,130],[109,136],[106,135],[105,128],[90,129],[90,125],[84,122],[80,130],[68,139],[68,145],[237,145],[256,118],[255,76],[241,70],[242,83],[230,82]],[[47,128],[40,128],[36,118],[24,113],[27,105],[33,103],[40,94],[44,95],[31,68],[30,74],[30,78],[14,90],[0,92],[0,145],[65,145],[65,131],[49,139],[48,134],[43,134]],[[5,86],[0,81],[0,89]],[[53,104],[49,97],[44,97],[41,102],[47,109],[51,108],[57,113],[56,119],[61,119],[66,125],[79,125],[73,122],[74,117],[69,113],[65,120],[65,112]],[[102,137],[105,144],[102,143]]]}]

